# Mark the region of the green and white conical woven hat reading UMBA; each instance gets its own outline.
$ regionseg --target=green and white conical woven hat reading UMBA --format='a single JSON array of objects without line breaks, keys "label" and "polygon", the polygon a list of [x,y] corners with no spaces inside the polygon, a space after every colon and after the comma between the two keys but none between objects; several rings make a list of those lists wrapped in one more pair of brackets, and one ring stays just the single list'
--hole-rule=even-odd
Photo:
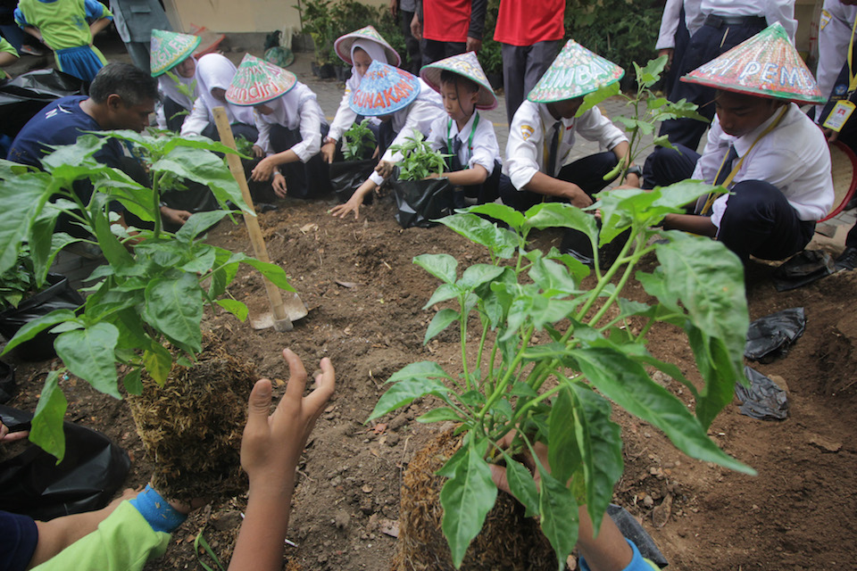
[{"label": "green and white conical woven hat reading UMBA", "polygon": [[625,70],[570,39],[527,95],[533,103],[574,99],[619,81]]}]

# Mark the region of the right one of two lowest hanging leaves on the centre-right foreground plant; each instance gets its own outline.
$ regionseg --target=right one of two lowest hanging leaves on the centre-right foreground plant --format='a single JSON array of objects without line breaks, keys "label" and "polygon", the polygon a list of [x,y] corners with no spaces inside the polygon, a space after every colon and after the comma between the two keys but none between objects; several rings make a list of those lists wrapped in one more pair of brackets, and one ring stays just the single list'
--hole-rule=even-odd
[{"label": "right one of two lowest hanging leaves on the centre-right foreground plant", "polygon": [[542,516],[542,533],[551,542],[562,570],[578,542],[578,502],[574,493],[551,476],[537,457],[534,458],[541,476],[538,510]]}]

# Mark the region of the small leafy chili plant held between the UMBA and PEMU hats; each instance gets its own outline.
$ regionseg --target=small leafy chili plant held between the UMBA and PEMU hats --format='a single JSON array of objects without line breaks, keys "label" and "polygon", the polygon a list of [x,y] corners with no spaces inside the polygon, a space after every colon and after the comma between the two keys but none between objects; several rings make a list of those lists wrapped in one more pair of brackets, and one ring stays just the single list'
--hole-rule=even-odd
[{"label": "small leafy chili plant held between the UMBA and PEMU hats", "polygon": [[655,128],[661,121],[681,118],[707,121],[696,112],[695,103],[690,103],[684,99],[671,102],[666,97],[652,91],[654,84],[661,79],[661,73],[667,65],[667,59],[666,55],[661,55],[661,57],[646,63],[645,68],[641,68],[637,62],[634,62],[634,70],[637,72],[636,94],[625,95],[621,93],[619,82],[616,81],[584,97],[583,104],[580,105],[576,114],[577,117],[613,95],[625,99],[626,105],[633,110],[632,117],[620,115],[613,119],[621,123],[625,132],[628,133],[628,157],[630,161],[621,161],[615,169],[604,175],[604,180],[612,180],[617,175],[621,175],[620,180],[624,179],[630,162],[633,162],[645,149],[652,146],[676,148],[670,143],[666,135],[653,137],[652,142],[648,144],[644,142],[643,137],[653,135]]}]

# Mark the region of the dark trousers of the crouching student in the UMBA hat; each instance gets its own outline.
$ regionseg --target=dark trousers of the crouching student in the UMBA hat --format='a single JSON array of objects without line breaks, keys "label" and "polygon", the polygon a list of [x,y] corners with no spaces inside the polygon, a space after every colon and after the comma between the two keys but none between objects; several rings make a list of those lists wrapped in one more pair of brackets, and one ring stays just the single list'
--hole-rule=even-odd
[{"label": "dark trousers of the crouching student in the UMBA hat", "polygon": [[[610,151],[591,154],[562,167],[556,178],[573,182],[580,186],[583,192],[592,196],[615,180],[615,178],[604,180],[604,176],[613,170],[618,162],[616,155]],[[522,212],[528,211],[538,203],[562,202],[561,198],[554,196],[518,190],[512,185],[512,180],[505,175],[500,178],[500,198],[503,204]]]}]

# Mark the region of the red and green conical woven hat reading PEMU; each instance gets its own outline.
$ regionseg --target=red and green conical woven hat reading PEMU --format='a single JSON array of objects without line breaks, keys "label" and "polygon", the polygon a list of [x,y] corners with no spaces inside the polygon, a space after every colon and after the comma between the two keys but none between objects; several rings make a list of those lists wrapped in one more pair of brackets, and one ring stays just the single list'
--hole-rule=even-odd
[{"label": "red and green conical woven hat reading PEMU", "polygon": [[681,80],[800,103],[827,102],[779,22],[696,68]]}]

